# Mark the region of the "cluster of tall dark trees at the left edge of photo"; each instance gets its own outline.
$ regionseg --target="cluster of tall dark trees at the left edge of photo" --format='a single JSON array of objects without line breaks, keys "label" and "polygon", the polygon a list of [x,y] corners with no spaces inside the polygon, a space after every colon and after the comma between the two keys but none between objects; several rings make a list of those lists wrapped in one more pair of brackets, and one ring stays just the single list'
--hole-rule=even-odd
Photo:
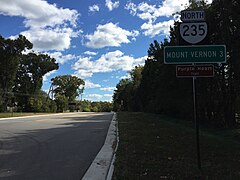
[{"label": "cluster of tall dark trees at the left edge of photo", "polygon": [[32,47],[22,35],[16,39],[0,36],[0,112],[7,112],[9,108],[26,112],[54,111],[41,87],[43,76],[57,70],[58,64],[47,54],[30,52]]}]

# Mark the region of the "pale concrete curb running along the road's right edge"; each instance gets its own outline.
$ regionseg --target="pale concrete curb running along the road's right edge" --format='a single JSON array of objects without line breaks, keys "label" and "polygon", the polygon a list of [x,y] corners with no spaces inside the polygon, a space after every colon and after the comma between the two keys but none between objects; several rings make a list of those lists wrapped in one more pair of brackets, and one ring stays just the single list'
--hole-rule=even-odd
[{"label": "pale concrete curb running along the road's right edge", "polygon": [[110,180],[112,178],[113,160],[115,159],[113,157],[115,157],[114,154],[116,151],[116,148],[114,147],[117,137],[116,124],[116,114],[114,113],[105,143],[83,176],[82,180]]}]

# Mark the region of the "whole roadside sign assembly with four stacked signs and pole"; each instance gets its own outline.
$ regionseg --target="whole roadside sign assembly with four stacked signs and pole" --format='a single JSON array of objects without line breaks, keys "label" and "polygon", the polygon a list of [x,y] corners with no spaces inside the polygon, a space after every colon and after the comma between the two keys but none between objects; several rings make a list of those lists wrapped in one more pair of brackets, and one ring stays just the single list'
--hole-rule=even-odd
[{"label": "whole roadside sign assembly with four stacked signs and pole", "polygon": [[[225,45],[199,45],[207,44],[208,24],[205,22],[204,11],[182,11],[182,23],[179,26],[179,42],[185,46],[164,47],[165,64],[188,64],[176,66],[177,77],[191,77],[193,88],[193,118],[196,128],[197,165],[201,170],[199,122],[196,108],[196,83],[197,77],[212,77],[213,65],[202,65],[202,63],[225,63]],[[186,46],[186,44],[188,46]],[[201,63],[201,65],[196,65]],[[189,65],[192,64],[192,65]]]}]

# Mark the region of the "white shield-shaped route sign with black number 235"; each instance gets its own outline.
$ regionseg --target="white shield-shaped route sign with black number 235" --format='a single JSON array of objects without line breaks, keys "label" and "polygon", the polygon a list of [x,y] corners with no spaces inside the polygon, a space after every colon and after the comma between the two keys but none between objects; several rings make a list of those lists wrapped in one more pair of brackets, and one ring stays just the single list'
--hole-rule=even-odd
[{"label": "white shield-shaped route sign with black number 235", "polygon": [[199,43],[207,36],[207,23],[181,23],[180,35],[186,42],[190,44]]}]

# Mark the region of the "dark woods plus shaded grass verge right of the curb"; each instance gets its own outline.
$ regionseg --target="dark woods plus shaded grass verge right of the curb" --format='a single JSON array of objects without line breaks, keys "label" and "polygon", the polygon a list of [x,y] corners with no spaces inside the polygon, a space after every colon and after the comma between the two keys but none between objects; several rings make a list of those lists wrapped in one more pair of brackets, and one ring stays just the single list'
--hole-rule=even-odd
[{"label": "dark woods plus shaded grass verge right of the curb", "polygon": [[240,179],[240,3],[189,2],[186,10],[206,13],[208,44],[226,45],[227,51],[226,63],[213,64],[214,77],[196,80],[202,169],[192,122],[192,79],[177,78],[175,65],[164,64],[164,47],[179,45],[176,21],[169,38],[150,44],[145,64],[116,86],[115,180]]}]

